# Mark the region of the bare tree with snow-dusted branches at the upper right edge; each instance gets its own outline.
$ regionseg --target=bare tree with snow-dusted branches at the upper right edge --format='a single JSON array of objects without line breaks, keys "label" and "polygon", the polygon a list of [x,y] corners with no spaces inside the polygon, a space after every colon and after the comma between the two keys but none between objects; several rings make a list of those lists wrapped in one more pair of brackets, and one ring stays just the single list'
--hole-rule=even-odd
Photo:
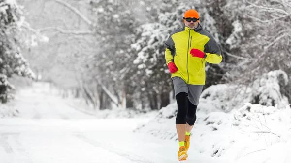
[{"label": "bare tree with snow-dusted branches at the upper right edge", "polygon": [[[241,15],[234,22],[234,32],[226,41],[234,54],[237,51],[242,56],[239,66],[231,72],[236,74],[231,77],[233,81],[248,85],[262,74],[279,69],[290,77],[290,3],[285,0],[244,0],[230,4],[239,5],[237,11]],[[281,93],[288,97],[289,103],[290,90],[289,79],[286,86],[281,86]]]}]

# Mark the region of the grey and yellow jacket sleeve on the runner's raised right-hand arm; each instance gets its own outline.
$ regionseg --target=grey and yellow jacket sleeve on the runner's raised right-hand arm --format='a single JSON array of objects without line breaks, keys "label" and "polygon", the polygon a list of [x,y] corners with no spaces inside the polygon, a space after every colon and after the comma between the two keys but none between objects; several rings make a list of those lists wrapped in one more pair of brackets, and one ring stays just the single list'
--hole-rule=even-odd
[{"label": "grey and yellow jacket sleeve on the runner's raised right-hand arm", "polygon": [[218,64],[222,61],[220,48],[211,35],[209,38],[209,41],[205,44],[204,47],[204,53],[206,54],[205,60],[209,63]]}]

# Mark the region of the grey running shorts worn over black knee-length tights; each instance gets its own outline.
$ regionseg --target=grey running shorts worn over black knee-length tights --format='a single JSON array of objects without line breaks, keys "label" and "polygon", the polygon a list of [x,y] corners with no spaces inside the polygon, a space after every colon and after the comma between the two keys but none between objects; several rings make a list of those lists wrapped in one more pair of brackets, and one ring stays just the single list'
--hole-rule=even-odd
[{"label": "grey running shorts worn over black knee-length tights", "polygon": [[186,84],[185,81],[180,77],[173,77],[175,96],[180,92],[188,93],[189,101],[194,104],[199,104],[200,95],[204,85],[191,85]]}]

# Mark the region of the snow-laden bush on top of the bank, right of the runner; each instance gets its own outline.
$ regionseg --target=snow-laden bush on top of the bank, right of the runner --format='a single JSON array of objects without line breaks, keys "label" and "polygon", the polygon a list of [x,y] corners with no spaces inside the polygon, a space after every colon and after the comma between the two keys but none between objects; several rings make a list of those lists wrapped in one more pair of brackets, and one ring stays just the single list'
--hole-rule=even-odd
[{"label": "snow-laden bush on top of the bank, right of the runner", "polygon": [[[263,74],[249,86],[234,84],[218,84],[210,86],[201,94],[217,109],[230,111],[242,107],[244,103],[262,104],[267,106],[285,107],[288,99],[282,95],[281,88],[288,83],[288,76],[282,70]],[[281,86],[281,87],[280,87]],[[199,109],[199,106],[198,106]]]}]

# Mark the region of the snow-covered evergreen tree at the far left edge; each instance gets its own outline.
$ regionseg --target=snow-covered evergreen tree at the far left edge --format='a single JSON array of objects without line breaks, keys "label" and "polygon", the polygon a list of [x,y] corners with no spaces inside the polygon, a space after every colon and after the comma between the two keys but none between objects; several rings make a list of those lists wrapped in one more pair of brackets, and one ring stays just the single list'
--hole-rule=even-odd
[{"label": "snow-covered evergreen tree at the far left edge", "polygon": [[14,88],[8,81],[13,74],[34,78],[28,61],[20,52],[23,44],[20,32],[24,20],[20,7],[14,0],[0,0],[0,102],[6,103],[13,96]]}]

